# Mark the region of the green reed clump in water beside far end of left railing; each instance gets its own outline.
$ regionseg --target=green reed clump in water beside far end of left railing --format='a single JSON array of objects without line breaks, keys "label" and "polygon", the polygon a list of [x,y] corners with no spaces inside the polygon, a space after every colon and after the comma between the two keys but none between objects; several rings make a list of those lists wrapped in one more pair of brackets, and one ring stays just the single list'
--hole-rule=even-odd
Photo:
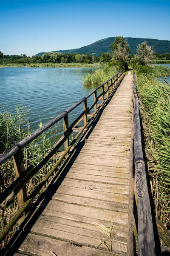
[{"label": "green reed clump in water beside far end of left railing", "polygon": [[96,87],[103,84],[105,81],[116,75],[119,71],[116,67],[100,68],[94,71],[94,73],[87,73],[83,80],[83,84],[86,86]]}]

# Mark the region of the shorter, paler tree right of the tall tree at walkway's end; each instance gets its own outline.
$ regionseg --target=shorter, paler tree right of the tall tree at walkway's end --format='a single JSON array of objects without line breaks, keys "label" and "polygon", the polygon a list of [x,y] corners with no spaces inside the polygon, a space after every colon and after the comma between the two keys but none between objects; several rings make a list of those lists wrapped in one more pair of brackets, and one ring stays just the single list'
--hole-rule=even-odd
[{"label": "shorter, paler tree right of the tall tree at walkway's end", "polygon": [[146,41],[138,44],[136,59],[139,65],[151,64],[156,59],[152,47],[148,46]]}]

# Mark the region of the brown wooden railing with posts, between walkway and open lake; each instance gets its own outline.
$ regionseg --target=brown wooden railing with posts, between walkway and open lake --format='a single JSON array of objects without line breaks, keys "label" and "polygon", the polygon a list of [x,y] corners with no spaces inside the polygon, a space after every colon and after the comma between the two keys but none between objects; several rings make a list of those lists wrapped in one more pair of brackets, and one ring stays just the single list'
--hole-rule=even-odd
[{"label": "brown wooden railing with posts, between walkway and open lake", "polygon": [[[54,173],[56,168],[62,162],[66,155],[68,155],[71,147],[73,147],[74,143],[78,140],[79,136],[82,132],[87,128],[88,124],[94,119],[96,114],[101,110],[103,105],[110,99],[110,97],[115,92],[116,88],[119,86],[120,82],[124,77],[125,70],[121,70],[111,79],[106,81],[105,83],[99,85],[94,90],[92,90],[87,96],[79,100],[77,103],[72,105],[66,111],[62,112],[59,116],[52,119],[47,124],[43,125],[37,131],[34,131],[31,135],[26,137],[25,139],[21,140],[19,143],[14,145],[8,151],[0,156],[0,165],[5,163],[11,157],[13,157],[14,161],[14,170],[15,170],[15,177],[16,179],[11,183],[8,188],[0,194],[0,204],[2,205],[3,202],[7,202],[13,195],[17,195],[17,201],[19,209],[14,217],[9,221],[9,223],[4,227],[4,229],[0,232],[0,242],[5,238],[14,224],[18,221],[18,219],[23,215],[26,211],[26,208],[31,203],[31,201],[35,198],[35,196],[40,192],[42,187],[48,181],[49,177]],[[102,89],[102,93],[97,96],[97,91]],[[87,107],[87,99],[94,94],[94,103]],[[98,105],[97,102],[101,100],[101,103]],[[75,121],[69,126],[68,123],[68,114],[71,113],[75,108],[77,108],[80,104],[83,103],[83,111],[82,113],[75,119]],[[88,119],[88,113],[94,108],[94,113],[91,113],[90,118]],[[50,153],[45,156],[45,158],[36,166],[29,166],[26,170],[24,169],[24,160],[23,160],[23,151],[22,149],[26,147],[29,143],[39,137],[42,133],[47,131],[51,128],[54,124],[59,122],[63,119],[63,135],[62,137],[55,143],[53,148],[51,148]],[[74,137],[72,142],[69,144],[69,136],[72,134],[74,127],[79,124],[79,122],[84,120],[84,126],[80,127],[80,131]],[[26,183],[31,180],[34,175],[48,162],[49,159],[59,150],[59,148],[64,145],[64,153],[59,157],[57,162],[48,172],[48,174],[43,178],[42,182],[34,189],[31,195],[27,198],[26,193]]]}]

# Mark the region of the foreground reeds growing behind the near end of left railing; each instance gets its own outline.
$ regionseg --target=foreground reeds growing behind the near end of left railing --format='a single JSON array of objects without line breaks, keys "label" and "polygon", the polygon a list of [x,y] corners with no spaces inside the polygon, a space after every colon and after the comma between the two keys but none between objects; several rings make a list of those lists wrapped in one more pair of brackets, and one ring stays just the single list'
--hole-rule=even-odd
[{"label": "foreground reeds growing behind the near end of left railing", "polygon": [[[39,126],[42,123],[39,122]],[[25,107],[16,107],[16,113],[10,114],[6,110],[0,113],[0,154],[8,150],[15,143],[31,134],[31,128],[28,122],[28,109]],[[51,131],[48,131],[40,136],[39,139],[31,142],[23,149],[25,169],[32,164],[37,166],[43,160],[45,154],[51,149]],[[57,159],[57,157],[56,157]],[[35,175],[26,186],[27,195],[30,195],[35,187],[42,181],[43,177],[49,172],[51,167],[56,162],[53,158]],[[3,192],[15,179],[13,160],[9,159],[6,163],[0,166],[0,192]],[[41,191],[42,192],[42,191]],[[13,196],[7,204],[3,203],[0,207],[0,231],[6,226],[11,217],[17,212],[17,197]],[[13,235],[17,226],[15,226],[6,239],[0,244],[0,248],[5,247],[8,240]]]}]

